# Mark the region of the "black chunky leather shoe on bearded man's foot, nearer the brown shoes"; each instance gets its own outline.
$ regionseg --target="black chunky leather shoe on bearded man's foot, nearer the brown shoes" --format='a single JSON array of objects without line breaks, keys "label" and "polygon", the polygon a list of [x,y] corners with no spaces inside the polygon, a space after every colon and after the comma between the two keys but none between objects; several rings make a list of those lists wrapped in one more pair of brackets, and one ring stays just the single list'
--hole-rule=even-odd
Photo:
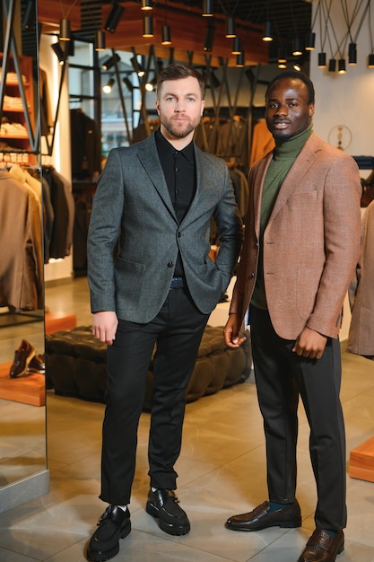
[{"label": "black chunky leather shoe on bearded man's foot, nearer the brown shoes", "polygon": [[173,490],[158,489],[149,491],[145,510],[157,517],[161,531],[170,535],[186,535],[190,530],[187,514],[178,505],[179,500]]}]

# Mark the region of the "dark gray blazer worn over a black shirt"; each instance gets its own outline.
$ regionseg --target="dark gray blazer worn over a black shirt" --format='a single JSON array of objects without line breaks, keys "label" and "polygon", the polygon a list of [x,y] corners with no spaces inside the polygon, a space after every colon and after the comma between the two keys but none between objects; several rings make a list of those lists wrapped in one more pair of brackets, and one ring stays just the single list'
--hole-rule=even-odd
[{"label": "dark gray blazer worn over a black shirt", "polygon": [[[242,224],[225,162],[196,146],[195,154],[196,195],[178,224],[154,135],[110,152],[88,234],[91,312],[151,321],[170,290],[178,251],[196,307],[209,314],[220,300],[237,263]],[[220,233],[215,262],[208,256],[212,216]]]}]

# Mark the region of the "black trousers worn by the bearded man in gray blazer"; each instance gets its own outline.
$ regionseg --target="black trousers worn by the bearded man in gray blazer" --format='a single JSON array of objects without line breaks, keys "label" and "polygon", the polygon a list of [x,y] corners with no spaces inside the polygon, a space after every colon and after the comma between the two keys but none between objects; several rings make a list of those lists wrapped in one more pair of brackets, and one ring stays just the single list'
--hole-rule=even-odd
[{"label": "black trousers worn by the bearded man in gray blazer", "polygon": [[147,324],[118,321],[108,348],[108,401],[102,430],[100,499],[128,505],[135,474],[137,429],[152,350],[153,400],[148,444],[152,487],[176,489],[187,384],[209,315],[187,289],[170,289],[156,318]]}]

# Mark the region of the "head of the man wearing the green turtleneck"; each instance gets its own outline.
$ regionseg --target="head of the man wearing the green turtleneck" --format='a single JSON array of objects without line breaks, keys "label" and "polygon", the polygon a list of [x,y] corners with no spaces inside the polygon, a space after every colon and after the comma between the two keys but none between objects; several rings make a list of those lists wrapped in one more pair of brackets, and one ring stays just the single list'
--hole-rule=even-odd
[{"label": "head of the man wearing the green turtleneck", "polygon": [[281,78],[266,96],[265,119],[276,141],[285,141],[309,127],[314,103],[309,90],[298,78]]}]

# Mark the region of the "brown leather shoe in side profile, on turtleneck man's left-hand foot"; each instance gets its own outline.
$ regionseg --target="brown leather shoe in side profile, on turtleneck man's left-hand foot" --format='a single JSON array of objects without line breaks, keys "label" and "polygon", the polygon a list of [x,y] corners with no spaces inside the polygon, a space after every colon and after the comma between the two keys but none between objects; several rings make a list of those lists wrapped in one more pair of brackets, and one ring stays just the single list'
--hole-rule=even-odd
[{"label": "brown leather shoe in side profile, on turtleneck man's left-hand foot", "polygon": [[233,515],[226,522],[227,529],[232,531],[260,531],[267,527],[294,528],[301,526],[300,505],[295,500],[293,504],[283,509],[269,512],[269,502],[257,505],[248,514]]}]

